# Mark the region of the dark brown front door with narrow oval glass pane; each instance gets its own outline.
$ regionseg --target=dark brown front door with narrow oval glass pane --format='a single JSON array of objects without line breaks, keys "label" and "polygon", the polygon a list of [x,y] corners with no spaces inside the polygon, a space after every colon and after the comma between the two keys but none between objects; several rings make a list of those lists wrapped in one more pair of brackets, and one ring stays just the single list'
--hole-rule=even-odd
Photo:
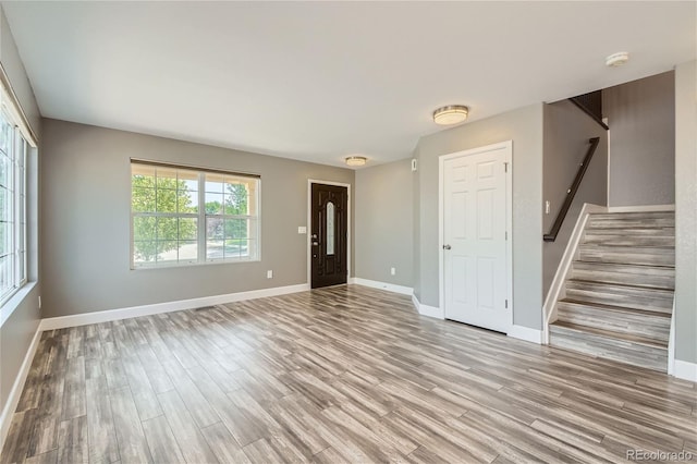
[{"label": "dark brown front door with narrow oval glass pane", "polygon": [[346,283],[347,188],[313,184],[311,199],[311,288]]}]

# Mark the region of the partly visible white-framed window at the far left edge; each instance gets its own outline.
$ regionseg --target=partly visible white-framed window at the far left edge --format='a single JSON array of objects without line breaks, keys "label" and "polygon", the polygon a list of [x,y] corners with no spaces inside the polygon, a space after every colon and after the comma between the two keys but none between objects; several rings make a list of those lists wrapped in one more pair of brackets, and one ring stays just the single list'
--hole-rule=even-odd
[{"label": "partly visible white-framed window at the far left edge", "polygon": [[7,102],[0,111],[0,302],[27,280],[26,157],[29,144]]}]

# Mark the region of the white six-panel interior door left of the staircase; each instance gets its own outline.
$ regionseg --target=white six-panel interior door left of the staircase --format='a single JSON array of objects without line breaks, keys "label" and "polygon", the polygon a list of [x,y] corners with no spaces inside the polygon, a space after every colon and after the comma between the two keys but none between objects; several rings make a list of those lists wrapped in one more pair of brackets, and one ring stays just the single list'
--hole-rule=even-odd
[{"label": "white six-panel interior door left of the staircase", "polygon": [[510,151],[499,144],[441,160],[445,318],[506,333]]}]

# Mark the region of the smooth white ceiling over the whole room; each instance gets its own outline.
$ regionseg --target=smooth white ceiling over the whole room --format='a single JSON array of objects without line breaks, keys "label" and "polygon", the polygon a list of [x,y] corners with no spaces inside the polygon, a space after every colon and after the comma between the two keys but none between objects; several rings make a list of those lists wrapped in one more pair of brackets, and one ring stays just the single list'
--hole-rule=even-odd
[{"label": "smooth white ceiling over the whole room", "polygon": [[2,7],[47,118],[337,166],[409,157],[443,105],[475,121],[696,56],[694,1]]}]

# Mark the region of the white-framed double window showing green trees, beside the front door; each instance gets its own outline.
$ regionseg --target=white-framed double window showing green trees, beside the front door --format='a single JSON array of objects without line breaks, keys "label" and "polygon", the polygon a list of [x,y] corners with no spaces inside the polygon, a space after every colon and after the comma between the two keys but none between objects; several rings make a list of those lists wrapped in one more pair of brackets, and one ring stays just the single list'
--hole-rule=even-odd
[{"label": "white-framed double window showing green trees, beside the front door", "polygon": [[131,162],[131,267],[259,259],[259,178]]}]

